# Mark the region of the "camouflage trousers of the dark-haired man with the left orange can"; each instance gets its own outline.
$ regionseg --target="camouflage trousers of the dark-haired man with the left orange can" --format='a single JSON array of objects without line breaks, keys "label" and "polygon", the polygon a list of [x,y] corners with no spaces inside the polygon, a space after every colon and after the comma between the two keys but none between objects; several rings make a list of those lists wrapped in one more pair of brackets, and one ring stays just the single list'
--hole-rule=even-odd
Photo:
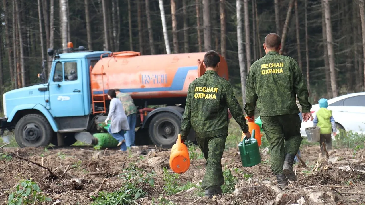
[{"label": "camouflage trousers of the dark-haired man with the left orange can", "polygon": [[217,189],[224,183],[222,164],[220,160],[223,156],[224,147],[226,145],[227,134],[207,137],[196,132],[196,141],[204,154],[205,174],[201,187],[203,189]]}]

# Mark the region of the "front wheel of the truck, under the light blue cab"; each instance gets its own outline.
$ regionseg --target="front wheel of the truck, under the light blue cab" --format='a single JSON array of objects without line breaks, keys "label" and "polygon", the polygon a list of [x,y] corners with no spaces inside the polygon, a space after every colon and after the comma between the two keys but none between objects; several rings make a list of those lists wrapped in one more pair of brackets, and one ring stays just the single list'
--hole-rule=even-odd
[{"label": "front wheel of the truck, under the light blue cab", "polygon": [[42,115],[26,115],[15,125],[15,140],[20,147],[45,147],[52,135],[51,125]]}]

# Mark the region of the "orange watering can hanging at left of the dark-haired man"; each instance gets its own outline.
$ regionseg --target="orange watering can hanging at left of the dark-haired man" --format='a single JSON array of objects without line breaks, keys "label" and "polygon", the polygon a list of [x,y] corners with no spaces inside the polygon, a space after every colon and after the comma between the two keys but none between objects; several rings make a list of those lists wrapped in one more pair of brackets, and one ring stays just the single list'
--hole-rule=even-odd
[{"label": "orange watering can hanging at left of the dark-haired man", "polygon": [[181,135],[177,135],[177,141],[171,148],[170,168],[174,173],[182,174],[189,169],[190,158],[188,147],[181,143]]}]

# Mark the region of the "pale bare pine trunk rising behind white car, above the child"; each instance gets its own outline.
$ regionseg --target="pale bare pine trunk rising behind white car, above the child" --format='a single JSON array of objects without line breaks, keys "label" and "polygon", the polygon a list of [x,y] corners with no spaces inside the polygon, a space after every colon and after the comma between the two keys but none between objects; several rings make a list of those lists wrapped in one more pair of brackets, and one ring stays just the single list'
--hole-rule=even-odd
[{"label": "pale bare pine trunk rising behind white car, above the child", "polygon": [[[322,0],[321,0],[322,1]],[[327,32],[326,32],[326,18],[324,17],[324,7],[322,1],[322,40],[323,40],[323,59],[324,59],[324,74],[326,76],[326,87],[328,97],[332,98],[331,76],[330,76],[330,62],[328,60],[327,49]]]}]

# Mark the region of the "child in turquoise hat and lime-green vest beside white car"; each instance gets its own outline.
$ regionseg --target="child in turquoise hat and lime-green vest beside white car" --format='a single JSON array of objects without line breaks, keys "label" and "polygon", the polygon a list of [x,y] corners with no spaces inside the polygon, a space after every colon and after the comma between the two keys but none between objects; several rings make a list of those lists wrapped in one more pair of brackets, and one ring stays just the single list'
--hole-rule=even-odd
[{"label": "child in turquoise hat and lime-green vest beside white car", "polygon": [[336,123],[335,119],[332,116],[332,111],[328,110],[328,102],[327,99],[321,98],[319,99],[319,110],[316,112],[316,116],[313,120],[313,126],[320,127],[320,151],[322,154],[325,154],[323,151],[322,143],[326,146],[326,150],[332,150],[332,133],[335,136],[336,133]]}]

